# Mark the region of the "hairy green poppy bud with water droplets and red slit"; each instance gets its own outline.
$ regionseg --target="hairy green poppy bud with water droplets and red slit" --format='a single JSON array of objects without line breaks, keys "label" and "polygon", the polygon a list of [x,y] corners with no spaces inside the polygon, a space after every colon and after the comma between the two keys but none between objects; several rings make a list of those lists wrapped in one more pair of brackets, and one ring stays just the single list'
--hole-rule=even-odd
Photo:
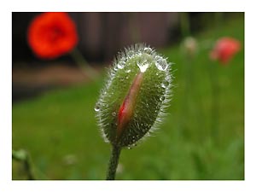
[{"label": "hairy green poppy bud with water droplets and red slit", "polygon": [[119,52],[95,107],[106,142],[129,148],[154,131],[171,100],[171,67],[146,44]]}]

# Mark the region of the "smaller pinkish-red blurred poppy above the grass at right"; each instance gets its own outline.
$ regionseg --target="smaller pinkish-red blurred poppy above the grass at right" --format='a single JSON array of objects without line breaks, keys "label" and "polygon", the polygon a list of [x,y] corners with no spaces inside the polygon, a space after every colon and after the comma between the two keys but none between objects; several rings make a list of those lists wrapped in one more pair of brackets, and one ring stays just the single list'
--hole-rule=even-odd
[{"label": "smaller pinkish-red blurred poppy above the grass at right", "polygon": [[240,42],[235,38],[219,38],[210,53],[210,57],[212,60],[227,64],[240,49]]}]

